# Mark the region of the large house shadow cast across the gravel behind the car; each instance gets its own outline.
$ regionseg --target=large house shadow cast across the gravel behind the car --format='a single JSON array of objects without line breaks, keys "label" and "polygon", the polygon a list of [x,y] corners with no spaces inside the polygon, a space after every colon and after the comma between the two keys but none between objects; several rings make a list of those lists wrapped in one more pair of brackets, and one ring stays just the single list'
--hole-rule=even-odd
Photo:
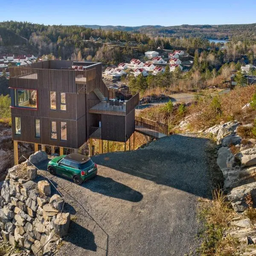
[{"label": "large house shadow cast across the gravel behind the car", "polygon": [[92,160],[120,172],[211,198],[208,146],[208,139],[175,134],[140,150],[96,155]]}]

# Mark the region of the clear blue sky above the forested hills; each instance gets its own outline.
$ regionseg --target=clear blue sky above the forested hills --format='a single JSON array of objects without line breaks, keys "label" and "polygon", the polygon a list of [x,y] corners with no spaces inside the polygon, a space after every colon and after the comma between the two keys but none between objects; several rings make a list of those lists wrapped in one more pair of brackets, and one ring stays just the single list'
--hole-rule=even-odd
[{"label": "clear blue sky above the forested hills", "polygon": [[62,25],[256,23],[256,0],[8,0],[0,21]]}]

